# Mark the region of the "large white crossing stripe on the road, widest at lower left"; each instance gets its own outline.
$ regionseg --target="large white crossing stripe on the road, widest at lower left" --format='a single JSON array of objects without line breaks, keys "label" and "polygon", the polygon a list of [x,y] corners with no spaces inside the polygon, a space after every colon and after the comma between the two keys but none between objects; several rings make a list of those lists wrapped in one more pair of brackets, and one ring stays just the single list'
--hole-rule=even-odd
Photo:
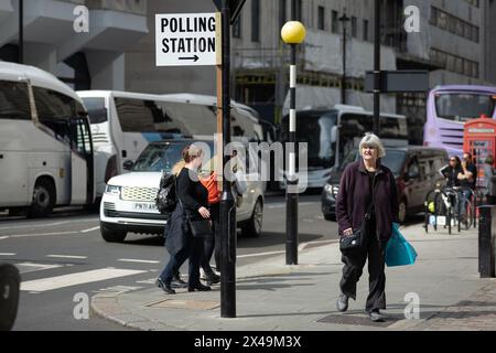
[{"label": "large white crossing stripe on the road, widest at lower left", "polygon": [[111,278],[138,275],[142,272],[145,271],[118,268],[100,268],[84,272],[30,280],[21,284],[21,290],[40,292],[83,284],[97,282]]}]

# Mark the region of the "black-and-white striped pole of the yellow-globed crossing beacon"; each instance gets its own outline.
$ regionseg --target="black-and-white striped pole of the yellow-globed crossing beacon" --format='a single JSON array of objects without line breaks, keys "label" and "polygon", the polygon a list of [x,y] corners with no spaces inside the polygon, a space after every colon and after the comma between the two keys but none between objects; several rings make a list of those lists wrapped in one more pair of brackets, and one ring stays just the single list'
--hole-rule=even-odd
[{"label": "black-and-white striped pole of the yellow-globed crossing beacon", "polygon": [[[291,4],[291,18],[296,19],[296,1]],[[296,153],[296,45],[291,44],[290,69],[290,126],[289,145],[287,153],[289,168],[285,190],[285,264],[298,265],[298,176],[295,173]]]}]

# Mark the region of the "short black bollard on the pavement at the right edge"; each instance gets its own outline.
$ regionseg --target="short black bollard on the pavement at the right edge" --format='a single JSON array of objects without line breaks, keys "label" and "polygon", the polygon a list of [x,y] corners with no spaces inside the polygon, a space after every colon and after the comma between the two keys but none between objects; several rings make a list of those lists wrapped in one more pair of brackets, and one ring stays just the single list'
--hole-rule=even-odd
[{"label": "short black bollard on the pavement at the right edge", "polygon": [[495,277],[496,207],[479,206],[478,272],[481,278]]}]

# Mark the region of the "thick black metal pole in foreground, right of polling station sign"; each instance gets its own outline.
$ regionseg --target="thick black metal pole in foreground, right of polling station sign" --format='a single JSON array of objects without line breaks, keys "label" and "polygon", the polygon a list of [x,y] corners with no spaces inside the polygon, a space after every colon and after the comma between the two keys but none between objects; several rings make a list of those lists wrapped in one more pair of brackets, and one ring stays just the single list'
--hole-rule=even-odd
[{"label": "thick black metal pole in foreground, right of polling station sign", "polygon": [[[223,156],[230,142],[230,25],[228,0],[223,0]],[[229,160],[223,157],[223,170]],[[236,206],[231,182],[224,176],[220,200],[222,261],[220,261],[220,317],[236,318]]]}]

